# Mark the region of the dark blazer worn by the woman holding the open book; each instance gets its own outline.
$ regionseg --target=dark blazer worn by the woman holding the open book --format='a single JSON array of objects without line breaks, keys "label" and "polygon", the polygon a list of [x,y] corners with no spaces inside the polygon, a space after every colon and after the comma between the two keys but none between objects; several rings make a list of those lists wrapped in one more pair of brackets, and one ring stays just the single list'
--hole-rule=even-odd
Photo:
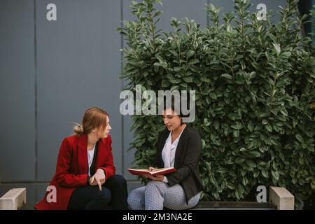
[{"label": "dark blazer worn by the woman holding the open book", "polygon": [[[168,136],[169,130],[164,130],[159,134],[155,156],[156,167],[164,167],[162,150]],[[166,175],[169,186],[179,183],[183,187],[187,203],[203,188],[198,167],[201,153],[202,141],[200,134],[187,125],[176,148],[174,168],[177,169],[177,172]]]}]

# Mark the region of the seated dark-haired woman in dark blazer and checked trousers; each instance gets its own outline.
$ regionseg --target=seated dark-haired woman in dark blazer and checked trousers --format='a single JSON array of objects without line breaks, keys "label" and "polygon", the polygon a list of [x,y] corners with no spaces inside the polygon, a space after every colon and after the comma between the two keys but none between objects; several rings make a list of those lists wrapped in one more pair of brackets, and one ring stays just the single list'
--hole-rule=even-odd
[{"label": "seated dark-haired woman in dark blazer and checked trousers", "polygon": [[156,167],[174,167],[177,172],[158,176],[146,174],[151,181],[130,193],[130,209],[190,209],[199,202],[202,181],[198,162],[202,141],[200,134],[183,123],[182,118],[175,113],[174,106],[163,111],[167,130],[159,134],[155,158]]}]

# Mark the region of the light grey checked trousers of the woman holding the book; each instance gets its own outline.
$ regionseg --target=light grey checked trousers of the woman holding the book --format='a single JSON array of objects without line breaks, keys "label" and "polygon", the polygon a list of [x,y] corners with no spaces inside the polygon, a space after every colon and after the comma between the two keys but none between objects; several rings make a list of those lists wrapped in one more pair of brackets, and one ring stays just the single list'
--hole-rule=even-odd
[{"label": "light grey checked trousers of the woman holding the book", "polygon": [[163,207],[183,210],[195,207],[199,199],[200,193],[187,204],[185,193],[179,184],[170,187],[161,181],[150,181],[145,187],[132,190],[128,196],[128,204],[132,210],[162,210]]}]

